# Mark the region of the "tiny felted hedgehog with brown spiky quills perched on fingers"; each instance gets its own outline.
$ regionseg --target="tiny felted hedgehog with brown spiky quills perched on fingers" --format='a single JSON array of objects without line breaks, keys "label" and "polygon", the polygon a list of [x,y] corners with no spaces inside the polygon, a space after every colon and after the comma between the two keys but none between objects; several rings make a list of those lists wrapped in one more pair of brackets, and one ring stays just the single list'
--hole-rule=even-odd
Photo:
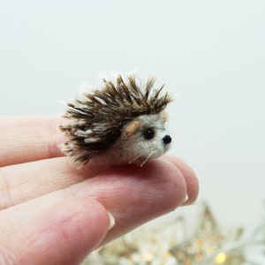
[{"label": "tiny felted hedgehog with brown spiky quills perched on fingers", "polygon": [[115,81],[103,79],[102,89],[84,93],[67,103],[60,125],[68,138],[61,149],[76,163],[89,161],[104,166],[135,163],[163,155],[170,148],[166,133],[165,107],[171,98],[162,95],[163,86],[154,88],[155,78],[138,84],[134,75]]}]

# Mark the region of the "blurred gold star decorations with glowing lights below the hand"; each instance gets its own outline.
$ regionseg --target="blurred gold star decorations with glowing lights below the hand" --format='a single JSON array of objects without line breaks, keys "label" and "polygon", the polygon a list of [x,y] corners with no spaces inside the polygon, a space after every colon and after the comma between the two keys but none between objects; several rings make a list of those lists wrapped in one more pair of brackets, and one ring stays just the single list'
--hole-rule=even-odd
[{"label": "blurred gold star decorations with glowing lights below the hand", "polygon": [[[183,234],[186,222],[182,216],[158,227],[143,226],[90,254],[83,265],[260,264],[246,259],[246,249],[259,246],[265,255],[265,218],[263,221],[250,239],[242,240],[242,228],[225,234],[202,202],[192,235]],[[265,256],[263,261],[265,264]]]}]

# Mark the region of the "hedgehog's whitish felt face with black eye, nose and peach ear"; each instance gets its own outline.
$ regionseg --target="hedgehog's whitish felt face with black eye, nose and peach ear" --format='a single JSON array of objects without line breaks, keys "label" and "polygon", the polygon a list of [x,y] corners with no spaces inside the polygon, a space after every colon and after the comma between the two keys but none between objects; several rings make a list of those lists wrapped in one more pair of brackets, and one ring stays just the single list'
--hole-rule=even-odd
[{"label": "hedgehog's whitish felt face with black eye, nose and peach ear", "polygon": [[142,165],[170,148],[171,138],[164,128],[166,118],[165,112],[142,115],[125,126],[120,147],[129,163]]}]

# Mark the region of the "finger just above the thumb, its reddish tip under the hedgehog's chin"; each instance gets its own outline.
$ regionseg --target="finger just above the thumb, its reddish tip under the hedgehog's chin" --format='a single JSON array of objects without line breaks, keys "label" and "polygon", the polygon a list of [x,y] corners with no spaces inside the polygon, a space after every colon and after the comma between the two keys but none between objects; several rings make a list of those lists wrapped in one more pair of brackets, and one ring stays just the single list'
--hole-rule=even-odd
[{"label": "finger just above the thumb, its reddish tip under the hedgehog's chin", "polygon": [[0,211],[0,238],[7,239],[42,210],[72,196],[100,201],[114,215],[117,224],[111,239],[176,208],[186,198],[186,181],[180,170],[163,160],[149,162],[144,168],[126,166],[105,171]]}]

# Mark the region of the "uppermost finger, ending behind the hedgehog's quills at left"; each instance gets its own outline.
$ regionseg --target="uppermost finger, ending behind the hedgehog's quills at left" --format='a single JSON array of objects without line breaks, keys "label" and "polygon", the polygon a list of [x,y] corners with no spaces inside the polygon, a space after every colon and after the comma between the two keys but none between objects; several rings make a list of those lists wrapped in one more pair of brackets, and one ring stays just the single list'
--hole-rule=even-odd
[{"label": "uppermost finger, ending behind the hedgehog's quills at left", "polygon": [[64,141],[56,116],[0,117],[0,167],[63,155],[57,145]]}]

